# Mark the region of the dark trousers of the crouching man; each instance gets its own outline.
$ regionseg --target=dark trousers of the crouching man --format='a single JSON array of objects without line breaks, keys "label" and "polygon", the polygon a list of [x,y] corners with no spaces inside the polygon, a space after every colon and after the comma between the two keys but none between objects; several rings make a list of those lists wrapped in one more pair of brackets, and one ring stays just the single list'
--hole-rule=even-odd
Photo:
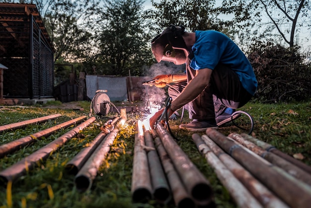
[{"label": "dark trousers of the crouching man", "polygon": [[[168,95],[174,100],[194,78],[196,70],[186,67],[187,81],[169,85]],[[210,120],[226,107],[237,109],[246,104],[252,95],[242,86],[238,75],[226,65],[219,64],[212,72],[209,85],[200,95],[184,107],[190,119]]]}]

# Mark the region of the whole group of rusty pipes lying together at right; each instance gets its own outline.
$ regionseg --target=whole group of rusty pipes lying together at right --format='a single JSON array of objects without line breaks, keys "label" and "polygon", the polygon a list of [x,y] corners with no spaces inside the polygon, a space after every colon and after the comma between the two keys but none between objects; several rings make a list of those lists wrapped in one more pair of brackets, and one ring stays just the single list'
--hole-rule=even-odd
[{"label": "whole group of rusty pipes lying together at right", "polygon": [[310,166],[244,133],[207,129],[192,139],[239,207],[310,207]]}]

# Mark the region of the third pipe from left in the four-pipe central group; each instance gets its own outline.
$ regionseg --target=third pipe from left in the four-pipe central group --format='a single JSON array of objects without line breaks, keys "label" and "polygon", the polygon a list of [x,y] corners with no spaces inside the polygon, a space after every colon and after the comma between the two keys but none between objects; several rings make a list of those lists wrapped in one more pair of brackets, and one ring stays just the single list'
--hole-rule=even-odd
[{"label": "third pipe from left in the four-pipe central group", "polygon": [[182,184],[181,179],[174,168],[173,162],[169,158],[160,137],[158,137],[156,133],[156,129],[152,129],[151,133],[155,139],[156,150],[172,191],[175,206],[177,208],[195,208],[195,203]]}]

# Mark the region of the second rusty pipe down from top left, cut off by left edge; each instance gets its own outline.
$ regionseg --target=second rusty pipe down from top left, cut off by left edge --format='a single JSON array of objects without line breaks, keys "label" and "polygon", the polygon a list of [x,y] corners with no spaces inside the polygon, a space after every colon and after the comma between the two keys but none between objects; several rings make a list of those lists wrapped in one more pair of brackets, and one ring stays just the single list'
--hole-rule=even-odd
[{"label": "second rusty pipe down from top left, cut off by left edge", "polygon": [[8,153],[11,153],[21,147],[24,147],[30,143],[35,142],[37,139],[41,139],[42,137],[48,137],[54,132],[58,131],[61,128],[67,128],[68,126],[71,126],[73,124],[77,124],[82,122],[82,120],[86,118],[86,116],[80,116],[78,118],[69,120],[67,122],[58,124],[56,126],[44,129],[42,131],[36,132],[34,134],[30,134],[26,137],[11,141],[9,143],[3,144],[0,146],[0,158],[4,157]]}]

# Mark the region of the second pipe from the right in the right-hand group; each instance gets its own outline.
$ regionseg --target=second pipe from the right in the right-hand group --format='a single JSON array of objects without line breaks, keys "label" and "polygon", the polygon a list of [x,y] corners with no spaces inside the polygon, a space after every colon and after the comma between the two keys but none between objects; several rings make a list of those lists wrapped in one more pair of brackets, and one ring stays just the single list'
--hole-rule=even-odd
[{"label": "second pipe from the right in the right-hand group", "polygon": [[229,134],[230,138],[233,138],[238,143],[242,144],[243,146],[247,147],[257,155],[261,156],[262,158],[266,159],[273,165],[276,165],[283,170],[285,170],[288,174],[291,176],[294,176],[295,178],[301,180],[302,182],[308,184],[311,186],[311,175],[309,175],[304,170],[300,169],[299,167],[295,166],[294,164],[288,162],[287,160],[283,159],[282,157],[279,157],[278,155],[275,155],[271,152],[265,151],[264,149],[258,147],[254,143],[245,140],[241,135],[236,133]]}]

